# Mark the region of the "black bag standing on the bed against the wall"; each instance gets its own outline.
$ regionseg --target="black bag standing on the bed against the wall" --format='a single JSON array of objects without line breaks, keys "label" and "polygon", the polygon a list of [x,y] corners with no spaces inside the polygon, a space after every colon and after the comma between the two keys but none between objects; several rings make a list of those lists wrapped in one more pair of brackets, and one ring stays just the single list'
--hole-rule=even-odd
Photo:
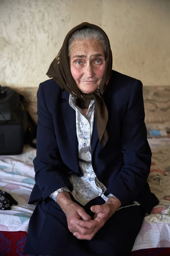
[{"label": "black bag standing on the bed against the wall", "polygon": [[37,125],[26,105],[23,95],[0,86],[0,155],[21,154],[25,143],[36,148]]}]

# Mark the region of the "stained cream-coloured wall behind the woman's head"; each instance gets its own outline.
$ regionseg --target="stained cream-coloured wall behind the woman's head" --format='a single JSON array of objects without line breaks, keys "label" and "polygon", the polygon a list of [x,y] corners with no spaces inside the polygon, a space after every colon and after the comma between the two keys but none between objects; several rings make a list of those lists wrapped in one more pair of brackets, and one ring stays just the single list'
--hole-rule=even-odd
[{"label": "stained cream-coloured wall behind the woman's head", "polygon": [[0,84],[48,79],[66,33],[83,21],[108,34],[113,69],[170,85],[170,0],[0,0]]}]

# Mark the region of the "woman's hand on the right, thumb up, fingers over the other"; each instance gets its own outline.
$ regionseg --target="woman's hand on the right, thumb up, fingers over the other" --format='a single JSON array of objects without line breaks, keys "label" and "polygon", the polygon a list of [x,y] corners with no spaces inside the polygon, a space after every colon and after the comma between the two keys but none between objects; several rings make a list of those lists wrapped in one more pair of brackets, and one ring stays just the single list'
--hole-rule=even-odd
[{"label": "woman's hand on the right, thumb up, fingers over the other", "polygon": [[73,235],[76,236],[77,239],[91,240],[97,231],[99,231],[105,225],[106,221],[116,212],[120,205],[121,203],[119,199],[109,197],[105,204],[92,206],[91,211],[95,212],[94,219],[90,221],[77,221],[78,225],[86,227],[89,230],[92,230],[92,232],[89,234],[82,234],[79,233],[79,231],[75,231]]}]

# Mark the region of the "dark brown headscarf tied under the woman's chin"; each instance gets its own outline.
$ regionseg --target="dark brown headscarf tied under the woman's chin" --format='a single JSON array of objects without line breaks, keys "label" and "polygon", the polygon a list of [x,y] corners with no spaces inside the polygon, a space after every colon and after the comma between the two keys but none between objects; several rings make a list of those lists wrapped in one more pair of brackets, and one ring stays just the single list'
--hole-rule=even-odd
[{"label": "dark brown headscarf tied under the woman's chin", "polygon": [[[96,29],[105,36],[106,40],[106,64],[105,64],[105,72],[102,78],[102,81],[98,87],[98,89],[94,93],[82,93],[77,87],[73,76],[70,71],[70,62],[68,57],[68,39],[70,36],[77,30],[83,29],[85,27],[89,27],[92,29]],[[108,141],[108,132],[106,129],[106,125],[108,122],[108,110],[106,108],[104,99],[102,95],[105,92],[106,87],[108,86],[109,81],[111,81],[111,71],[112,71],[112,52],[110,47],[110,42],[106,33],[99,27],[87,22],[83,22],[78,26],[68,32],[65,37],[65,40],[62,44],[62,47],[57,54],[56,58],[52,61],[47,76],[49,78],[53,78],[57,84],[62,88],[62,90],[67,90],[68,93],[74,95],[75,103],[80,108],[88,108],[91,99],[95,100],[95,116],[97,123],[97,133],[99,137],[100,144],[104,147]]]}]

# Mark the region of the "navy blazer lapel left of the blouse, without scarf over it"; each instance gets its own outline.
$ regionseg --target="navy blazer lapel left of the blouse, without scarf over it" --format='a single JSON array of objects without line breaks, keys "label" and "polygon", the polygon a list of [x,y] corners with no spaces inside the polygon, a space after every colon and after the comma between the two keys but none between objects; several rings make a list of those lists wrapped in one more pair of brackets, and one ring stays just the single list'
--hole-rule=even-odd
[{"label": "navy blazer lapel left of the blouse, without scarf over it", "polygon": [[62,93],[61,102],[61,112],[62,118],[65,123],[65,128],[69,141],[71,143],[73,153],[78,160],[78,141],[77,141],[77,131],[76,131],[76,111],[69,105],[69,94],[64,91]]}]

